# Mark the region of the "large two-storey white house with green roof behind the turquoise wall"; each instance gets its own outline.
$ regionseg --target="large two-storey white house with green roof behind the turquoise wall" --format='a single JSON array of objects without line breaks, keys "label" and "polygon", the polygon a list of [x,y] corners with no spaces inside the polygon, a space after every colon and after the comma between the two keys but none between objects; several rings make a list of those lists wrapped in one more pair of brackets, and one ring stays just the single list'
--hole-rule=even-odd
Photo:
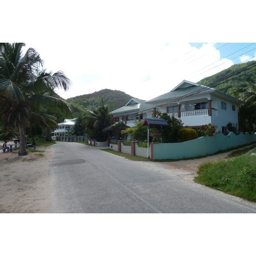
[{"label": "large two-storey white house with green roof behind the turquoise wall", "polygon": [[238,124],[237,106],[244,102],[212,87],[183,80],[170,92],[145,103],[181,119],[187,128],[210,123],[216,131],[226,134],[229,122]]}]

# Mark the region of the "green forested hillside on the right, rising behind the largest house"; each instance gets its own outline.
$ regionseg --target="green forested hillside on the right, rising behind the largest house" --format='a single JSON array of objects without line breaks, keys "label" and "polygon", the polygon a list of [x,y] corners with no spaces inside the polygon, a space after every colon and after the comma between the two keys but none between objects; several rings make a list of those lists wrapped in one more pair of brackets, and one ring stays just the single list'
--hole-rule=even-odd
[{"label": "green forested hillside on the right, rising behind the largest house", "polygon": [[[249,67],[249,65],[251,65],[251,64],[253,64],[253,66]],[[241,69],[246,69],[246,70],[239,72],[239,70],[241,70]],[[229,89],[230,90],[237,89],[240,87],[247,88],[247,83],[245,80],[248,77],[250,77],[250,74],[254,73],[255,71],[256,71],[256,61],[249,61],[249,62],[242,63],[242,64],[235,64],[225,70],[222,70],[221,72],[219,72],[213,76],[206,77],[206,78],[198,81],[197,83],[206,85],[209,87],[214,87],[217,90],[220,90],[224,93],[230,94]],[[238,72],[238,73],[235,76],[224,79],[223,81],[217,81],[219,79],[225,78],[226,76],[232,75],[233,73],[236,73],[236,72]],[[215,81],[217,81],[217,82],[214,83]],[[214,83],[214,84],[212,84],[212,83]]]}]

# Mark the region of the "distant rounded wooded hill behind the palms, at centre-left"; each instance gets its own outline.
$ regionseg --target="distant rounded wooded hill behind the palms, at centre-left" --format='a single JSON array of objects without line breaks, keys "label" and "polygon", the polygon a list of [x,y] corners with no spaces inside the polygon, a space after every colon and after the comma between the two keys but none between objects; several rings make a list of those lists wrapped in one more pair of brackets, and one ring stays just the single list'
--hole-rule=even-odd
[{"label": "distant rounded wooded hill behind the palms, at centre-left", "polygon": [[98,92],[69,98],[67,102],[76,108],[93,110],[93,108],[101,106],[100,97],[102,97],[104,104],[108,104],[110,111],[121,108],[133,98],[131,95],[119,90],[104,89]]}]

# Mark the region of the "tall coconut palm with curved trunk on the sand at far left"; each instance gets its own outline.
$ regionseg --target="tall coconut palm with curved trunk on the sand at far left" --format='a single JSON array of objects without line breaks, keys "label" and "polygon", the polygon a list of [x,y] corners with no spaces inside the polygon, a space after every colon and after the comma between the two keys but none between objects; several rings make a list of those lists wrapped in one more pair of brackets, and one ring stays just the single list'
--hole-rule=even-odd
[{"label": "tall coconut palm with curved trunk on the sand at far left", "polygon": [[70,80],[59,71],[53,75],[39,71],[42,61],[35,49],[22,55],[24,43],[0,44],[0,113],[4,121],[18,127],[20,133],[19,155],[26,155],[23,122],[29,122],[38,106],[56,108],[70,113],[70,105],[62,99],[47,96],[49,90],[68,90]]}]

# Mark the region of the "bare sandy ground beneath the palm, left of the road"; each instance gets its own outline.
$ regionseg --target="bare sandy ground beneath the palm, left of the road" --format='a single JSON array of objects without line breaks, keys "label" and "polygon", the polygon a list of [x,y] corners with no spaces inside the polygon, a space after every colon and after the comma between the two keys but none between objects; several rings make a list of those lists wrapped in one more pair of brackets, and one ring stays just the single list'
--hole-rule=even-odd
[{"label": "bare sandy ground beneath the palm, left of the road", "polygon": [[50,147],[37,146],[44,152],[26,156],[0,153],[0,212],[47,212],[52,185],[48,175]]}]

